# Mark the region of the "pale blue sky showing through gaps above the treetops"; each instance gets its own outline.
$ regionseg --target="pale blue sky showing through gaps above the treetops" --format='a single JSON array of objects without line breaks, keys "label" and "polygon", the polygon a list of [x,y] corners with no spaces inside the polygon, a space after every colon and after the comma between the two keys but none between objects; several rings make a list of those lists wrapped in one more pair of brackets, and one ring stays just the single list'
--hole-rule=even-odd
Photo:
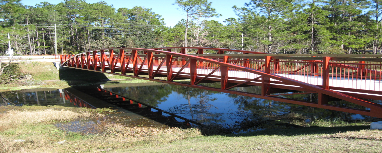
[{"label": "pale blue sky showing through gaps above the treetops", "polygon": [[[97,3],[100,0],[86,0],[87,3]],[[172,5],[175,0],[104,0],[108,5],[113,5],[117,10],[118,8],[133,8],[133,7],[144,7],[152,8],[156,14],[161,15],[164,19],[166,26],[175,26],[178,21],[185,18],[183,12],[176,10],[178,5]],[[35,6],[40,2],[49,2],[52,4],[58,4],[62,0],[21,0],[23,5]],[[212,2],[211,7],[216,9],[217,13],[222,14],[219,18],[209,18],[208,20],[219,21],[224,24],[223,21],[227,18],[239,18],[233,12],[233,5],[237,7],[243,7],[244,3],[250,2],[250,0],[209,0]]]}]

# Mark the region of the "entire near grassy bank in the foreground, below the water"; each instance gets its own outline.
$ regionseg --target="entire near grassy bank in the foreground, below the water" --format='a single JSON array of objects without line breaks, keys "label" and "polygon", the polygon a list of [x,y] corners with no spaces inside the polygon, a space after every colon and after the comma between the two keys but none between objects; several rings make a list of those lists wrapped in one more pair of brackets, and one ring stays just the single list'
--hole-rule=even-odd
[{"label": "entire near grassy bank in the foreground, below the water", "polygon": [[197,129],[129,127],[101,120],[92,124],[90,131],[68,132],[55,124],[73,120],[84,120],[85,123],[113,111],[61,106],[2,106],[0,112],[2,153],[378,153],[382,147],[382,131],[368,130],[370,122],[366,121],[317,119],[311,125],[295,129],[202,135]]}]

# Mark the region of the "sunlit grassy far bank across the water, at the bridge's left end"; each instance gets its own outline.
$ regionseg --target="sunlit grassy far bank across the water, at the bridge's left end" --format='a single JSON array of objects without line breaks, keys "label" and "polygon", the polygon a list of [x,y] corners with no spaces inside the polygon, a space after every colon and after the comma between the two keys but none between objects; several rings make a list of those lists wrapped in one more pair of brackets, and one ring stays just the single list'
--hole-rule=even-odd
[{"label": "sunlit grassy far bank across the water, at the bridge's left end", "polygon": [[13,91],[32,88],[68,88],[70,85],[93,85],[104,83],[142,83],[141,79],[110,75],[85,70],[57,70],[52,62],[18,62],[24,73],[32,75],[31,80],[15,80],[1,84],[0,91]]}]

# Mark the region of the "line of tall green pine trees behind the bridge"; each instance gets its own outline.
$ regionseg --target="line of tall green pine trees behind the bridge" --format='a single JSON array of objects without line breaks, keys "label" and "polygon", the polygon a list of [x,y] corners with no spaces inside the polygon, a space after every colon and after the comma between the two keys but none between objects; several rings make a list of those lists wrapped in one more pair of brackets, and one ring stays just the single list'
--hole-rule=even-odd
[{"label": "line of tall green pine trees behind the bridge", "polygon": [[[181,3],[186,1],[190,3]],[[84,0],[24,6],[20,0],[2,0],[0,51],[5,52],[10,41],[16,54],[54,54],[56,24],[58,54],[108,47],[182,46],[278,54],[364,54],[370,49],[372,54],[380,54],[380,2],[252,0],[244,7],[233,6],[238,19],[228,18],[219,23],[196,13],[185,16],[189,20],[182,19],[174,27],[167,27],[160,15],[144,7],[116,10],[103,1]],[[207,0],[175,3],[180,8],[197,3],[214,13]]]}]

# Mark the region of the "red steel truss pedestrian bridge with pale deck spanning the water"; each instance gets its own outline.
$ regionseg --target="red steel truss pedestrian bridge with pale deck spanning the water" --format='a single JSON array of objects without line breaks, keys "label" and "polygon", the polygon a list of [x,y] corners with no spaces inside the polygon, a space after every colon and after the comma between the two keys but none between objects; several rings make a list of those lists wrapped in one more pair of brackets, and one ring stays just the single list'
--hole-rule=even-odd
[{"label": "red steel truss pedestrian bridge with pale deck spanning the water", "polygon": [[[186,54],[186,50],[196,54]],[[382,100],[382,58],[354,56],[357,55],[296,56],[205,47],[105,48],[61,55],[61,64],[63,67],[382,118],[382,105],[373,102]],[[175,80],[189,80],[189,83]],[[220,88],[201,84],[212,82],[220,82]],[[261,86],[261,93],[235,90],[244,86]],[[286,95],[311,93],[318,94],[317,102],[285,98]],[[330,103],[340,100],[365,109]]]}]

